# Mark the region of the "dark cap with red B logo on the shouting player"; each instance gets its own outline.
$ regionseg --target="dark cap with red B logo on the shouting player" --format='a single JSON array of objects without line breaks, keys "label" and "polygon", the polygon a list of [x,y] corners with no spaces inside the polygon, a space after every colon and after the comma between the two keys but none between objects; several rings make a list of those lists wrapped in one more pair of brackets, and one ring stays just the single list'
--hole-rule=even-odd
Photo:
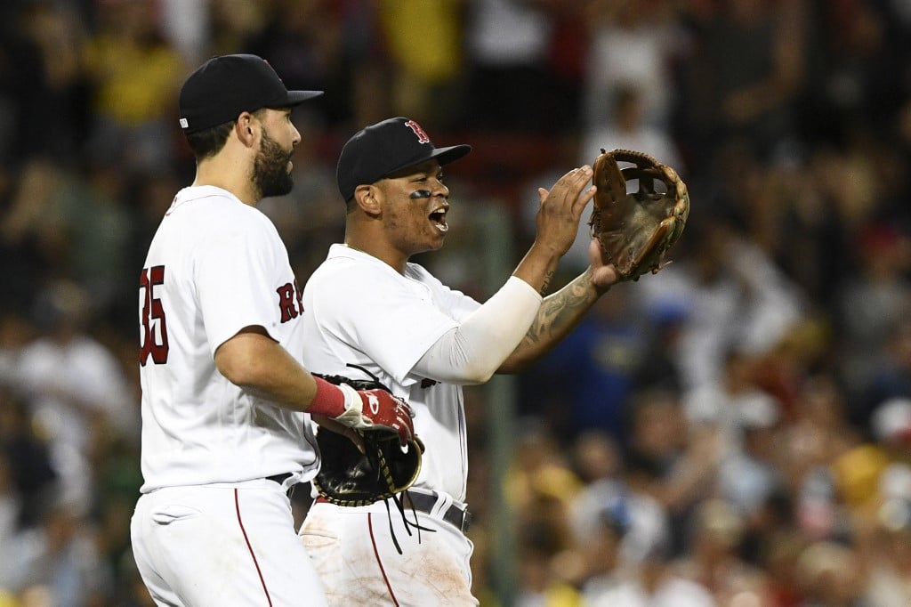
[{"label": "dark cap with red B logo on the shouting player", "polygon": [[465,156],[471,146],[435,148],[425,130],[409,118],[387,118],[356,132],[344,144],[335,178],[343,200],[354,195],[359,185],[374,183],[397,170],[429,159],[440,165]]}]

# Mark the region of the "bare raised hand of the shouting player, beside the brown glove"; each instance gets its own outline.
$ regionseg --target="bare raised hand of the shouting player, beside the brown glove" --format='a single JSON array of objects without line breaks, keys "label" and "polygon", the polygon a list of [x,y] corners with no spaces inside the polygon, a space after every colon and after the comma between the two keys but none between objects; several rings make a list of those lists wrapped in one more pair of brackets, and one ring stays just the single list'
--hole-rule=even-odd
[{"label": "bare raised hand of the shouting player, beside the brown glove", "polygon": [[565,254],[576,240],[582,211],[595,195],[595,187],[586,190],[591,180],[591,167],[570,170],[550,190],[538,188],[535,244]]}]

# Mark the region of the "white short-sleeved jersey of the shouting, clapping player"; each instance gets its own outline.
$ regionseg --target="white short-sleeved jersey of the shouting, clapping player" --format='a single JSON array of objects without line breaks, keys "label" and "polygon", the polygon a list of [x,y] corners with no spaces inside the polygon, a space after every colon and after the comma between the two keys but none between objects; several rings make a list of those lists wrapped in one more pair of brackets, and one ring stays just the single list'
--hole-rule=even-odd
[{"label": "white short-sleeved jersey of the shouting, clapping player", "polygon": [[303,364],[315,373],[377,376],[415,411],[427,449],[415,487],[466,499],[462,388],[415,376],[411,368],[441,335],[480,304],[408,263],[404,274],[372,255],[334,244],[303,289]]}]

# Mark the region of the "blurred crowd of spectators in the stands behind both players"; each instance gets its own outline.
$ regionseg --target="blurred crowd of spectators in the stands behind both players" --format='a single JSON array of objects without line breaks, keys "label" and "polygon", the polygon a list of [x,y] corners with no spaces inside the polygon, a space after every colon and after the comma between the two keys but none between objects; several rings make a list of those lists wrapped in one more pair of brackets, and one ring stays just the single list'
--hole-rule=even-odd
[{"label": "blurred crowd of spectators in the stands behind both players", "polygon": [[482,605],[911,604],[911,2],[6,0],[0,606],[151,604],[138,270],[192,179],[179,84],[237,52],[325,91],[293,114],[294,191],[261,204],[302,281],[343,237],[340,145],[382,118],[473,145],[446,170],[451,251],[420,261],[478,298],[474,210],[522,251],[537,187],[600,148],[687,181],[672,263],[516,378],[510,599],[497,403],[468,391]]}]

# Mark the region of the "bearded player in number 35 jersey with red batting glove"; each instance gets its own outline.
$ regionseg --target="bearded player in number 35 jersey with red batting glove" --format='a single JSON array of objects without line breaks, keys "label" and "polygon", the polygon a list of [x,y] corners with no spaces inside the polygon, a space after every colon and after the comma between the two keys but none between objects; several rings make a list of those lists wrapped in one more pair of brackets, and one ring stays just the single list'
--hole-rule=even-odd
[{"label": "bearded player in number 35 jersey with red batting glove", "polygon": [[410,425],[387,393],[302,366],[301,293],[255,208],[292,189],[292,108],[321,93],[288,91],[251,55],[214,57],[180,90],[196,179],[139,280],[144,483],[130,531],[160,605],[325,604],[287,495],[319,464],[307,414],[351,437]]}]

